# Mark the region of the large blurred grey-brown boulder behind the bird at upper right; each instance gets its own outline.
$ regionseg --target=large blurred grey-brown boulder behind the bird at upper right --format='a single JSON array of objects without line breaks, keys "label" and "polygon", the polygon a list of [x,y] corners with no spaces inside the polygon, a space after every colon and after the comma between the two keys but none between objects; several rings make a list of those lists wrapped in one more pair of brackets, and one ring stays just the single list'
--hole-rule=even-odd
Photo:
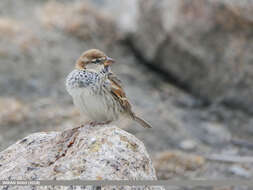
[{"label": "large blurred grey-brown boulder behind the bird at upper right", "polygon": [[252,1],[140,0],[139,57],[197,97],[252,112]]}]

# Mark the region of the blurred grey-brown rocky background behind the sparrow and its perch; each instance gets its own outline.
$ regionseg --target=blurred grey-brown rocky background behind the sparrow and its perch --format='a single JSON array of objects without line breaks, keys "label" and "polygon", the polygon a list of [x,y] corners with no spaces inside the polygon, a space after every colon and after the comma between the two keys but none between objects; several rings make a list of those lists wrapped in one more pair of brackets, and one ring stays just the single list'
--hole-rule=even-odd
[{"label": "blurred grey-brown rocky background behind the sparrow and its perch", "polygon": [[65,77],[99,48],[153,125],[120,122],[158,178],[251,178],[252,10],[250,0],[1,0],[0,150],[82,122]]}]

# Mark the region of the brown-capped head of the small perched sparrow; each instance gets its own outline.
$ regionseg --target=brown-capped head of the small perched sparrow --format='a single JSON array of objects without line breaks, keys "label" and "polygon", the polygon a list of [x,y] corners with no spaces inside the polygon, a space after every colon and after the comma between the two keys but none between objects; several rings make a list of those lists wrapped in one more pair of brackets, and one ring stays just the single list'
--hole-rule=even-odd
[{"label": "brown-capped head of the small perched sparrow", "polygon": [[99,71],[103,67],[108,67],[114,60],[98,49],[85,51],[77,60],[76,68],[79,70],[90,69]]}]

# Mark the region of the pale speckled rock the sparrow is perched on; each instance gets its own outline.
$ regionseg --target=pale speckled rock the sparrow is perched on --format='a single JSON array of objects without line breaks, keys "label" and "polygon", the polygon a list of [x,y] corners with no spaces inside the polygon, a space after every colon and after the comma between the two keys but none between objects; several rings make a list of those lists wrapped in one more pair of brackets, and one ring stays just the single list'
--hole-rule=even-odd
[{"label": "pale speckled rock the sparrow is perched on", "polygon": [[[108,125],[32,134],[0,153],[0,176],[13,180],[157,179],[144,144],[133,135]],[[32,189],[10,187],[15,188]],[[134,187],[116,189],[131,188]]]}]

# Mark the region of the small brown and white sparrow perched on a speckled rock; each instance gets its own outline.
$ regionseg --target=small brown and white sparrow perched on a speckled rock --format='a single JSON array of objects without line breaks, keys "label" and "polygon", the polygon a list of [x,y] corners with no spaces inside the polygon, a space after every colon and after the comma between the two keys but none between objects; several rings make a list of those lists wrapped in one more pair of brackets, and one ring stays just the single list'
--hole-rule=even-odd
[{"label": "small brown and white sparrow perched on a speckled rock", "polygon": [[151,128],[133,112],[121,81],[111,70],[114,63],[114,59],[98,49],[81,54],[75,69],[66,78],[66,90],[72,96],[74,105],[92,125],[109,124],[123,116],[142,127]]}]

